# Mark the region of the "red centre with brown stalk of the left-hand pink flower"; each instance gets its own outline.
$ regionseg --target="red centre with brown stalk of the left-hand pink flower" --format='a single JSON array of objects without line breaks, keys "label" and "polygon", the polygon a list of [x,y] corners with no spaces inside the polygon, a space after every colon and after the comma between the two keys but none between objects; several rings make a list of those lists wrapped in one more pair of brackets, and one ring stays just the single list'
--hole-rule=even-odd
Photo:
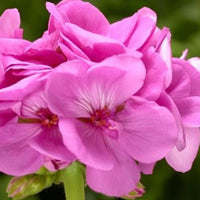
[{"label": "red centre with brown stalk of the left-hand pink flower", "polygon": [[53,114],[48,108],[40,108],[35,112],[36,118],[18,117],[19,123],[39,123],[44,127],[51,128],[58,124],[58,116]]}]

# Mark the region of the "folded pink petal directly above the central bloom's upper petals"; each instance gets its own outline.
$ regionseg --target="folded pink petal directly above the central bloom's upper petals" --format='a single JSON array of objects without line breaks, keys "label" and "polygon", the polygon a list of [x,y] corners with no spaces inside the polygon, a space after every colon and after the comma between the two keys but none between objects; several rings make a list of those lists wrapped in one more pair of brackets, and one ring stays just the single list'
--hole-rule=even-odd
[{"label": "folded pink petal directly above the central bloom's upper petals", "polygon": [[125,47],[121,43],[81,29],[74,24],[66,23],[63,34],[94,62],[125,52]]}]

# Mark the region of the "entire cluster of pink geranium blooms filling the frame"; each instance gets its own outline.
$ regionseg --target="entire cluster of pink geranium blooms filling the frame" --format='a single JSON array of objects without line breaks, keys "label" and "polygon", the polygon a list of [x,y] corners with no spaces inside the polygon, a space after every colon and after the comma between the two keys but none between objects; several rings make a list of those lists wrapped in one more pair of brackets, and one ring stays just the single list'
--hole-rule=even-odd
[{"label": "entire cluster of pink geranium blooms filling the frame", "polygon": [[90,3],[46,3],[48,29],[22,38],[0,17],[0,171],[32,174],[79,161],[108,196],[133,191],[165,158],[191,169],[200,143],[200,59],[173,58],[168,28],[142,8],[110,24]]}]

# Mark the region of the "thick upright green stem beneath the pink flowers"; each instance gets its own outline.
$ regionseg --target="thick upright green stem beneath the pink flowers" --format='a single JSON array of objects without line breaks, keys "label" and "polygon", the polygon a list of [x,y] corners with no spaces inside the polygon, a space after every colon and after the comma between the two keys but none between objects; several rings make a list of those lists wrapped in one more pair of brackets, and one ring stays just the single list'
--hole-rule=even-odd
[{"label": "thick upright green stem beneath the pink flowers", "polygon": [[63,182],[67,200],[85,200],[84,167],[73,162],[63,170]]}]

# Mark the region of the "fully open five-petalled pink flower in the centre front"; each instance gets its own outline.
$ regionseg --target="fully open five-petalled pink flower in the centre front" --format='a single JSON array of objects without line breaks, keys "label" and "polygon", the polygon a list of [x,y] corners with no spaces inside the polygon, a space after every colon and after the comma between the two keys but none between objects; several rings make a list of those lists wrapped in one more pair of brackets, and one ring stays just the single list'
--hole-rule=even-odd
[{"label": "fully open five-petalled pink flower in the centre front", "polygon": [[93,65],[69,61],[48,78],[49,108],[60,116],[64,144],[86,164],[88,185],[109,196],[136,187],[140,170],[134,160],[160,160],[175,145],[171,113],[133,96],[144,79],[141,59],[125,55]]}]

